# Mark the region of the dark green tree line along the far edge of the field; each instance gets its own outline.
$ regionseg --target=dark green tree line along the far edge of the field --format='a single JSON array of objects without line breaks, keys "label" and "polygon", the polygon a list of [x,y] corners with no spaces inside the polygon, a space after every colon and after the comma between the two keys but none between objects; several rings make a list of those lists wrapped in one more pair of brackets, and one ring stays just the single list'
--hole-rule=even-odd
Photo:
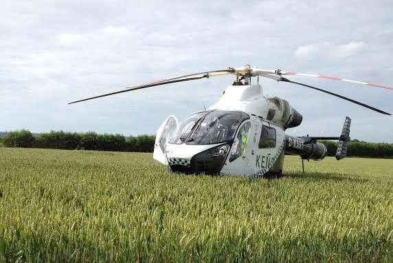
[{"label": "dark green tree line along the far edge of the field", "polygon": [[[85,149],[96,151],[142,151],[153,152],[154,135],[124,137],[121,134],[97,134],[90,131],[76,133],[66,131],[50,131],[34,136],[25,129],[10,131],[0,143],[5,147],[46,148],[46,149]],[[328,149],[328,156],[335,156],[337,142],[321,141]],[[393,158],[392,143],[366,143],[352,140],[348,145],[348,156]]]}]

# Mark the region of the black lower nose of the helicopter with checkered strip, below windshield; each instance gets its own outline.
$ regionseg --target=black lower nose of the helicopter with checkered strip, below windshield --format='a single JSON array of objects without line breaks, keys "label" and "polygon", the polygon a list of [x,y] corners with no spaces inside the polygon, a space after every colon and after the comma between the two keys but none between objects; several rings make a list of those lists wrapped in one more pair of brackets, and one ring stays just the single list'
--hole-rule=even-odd
[{"label": "black lower nose of the helicopter with checkered strip, below windshield", "polygon": [[217,174],[225,163],[229,149],[230,145],[225,143],[195,154],[191,160],[168,158],[168,162],[170,169],[175,172]]}]

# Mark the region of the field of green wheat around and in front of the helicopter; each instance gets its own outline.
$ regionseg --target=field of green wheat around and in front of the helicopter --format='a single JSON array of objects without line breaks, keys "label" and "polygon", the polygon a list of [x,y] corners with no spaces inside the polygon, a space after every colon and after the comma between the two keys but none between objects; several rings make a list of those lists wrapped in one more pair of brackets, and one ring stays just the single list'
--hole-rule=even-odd
[{"label": "field of green wheat around and in front of the helicopter", "polygon": [[247,180],[0,148],[0,262],[393,262],[393,160],[304,165]]}]

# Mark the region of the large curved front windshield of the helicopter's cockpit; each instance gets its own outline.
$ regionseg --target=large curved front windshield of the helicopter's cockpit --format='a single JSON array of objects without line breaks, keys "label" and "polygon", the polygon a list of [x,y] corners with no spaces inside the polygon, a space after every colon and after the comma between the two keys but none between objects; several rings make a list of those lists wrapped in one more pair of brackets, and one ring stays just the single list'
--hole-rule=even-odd
[{"label": "large curved front windshield of the helicopter's cockpit", "polygon": [[240,123],[248,118],[244,112],[224,110],[192,114],[183,121],[169,143],[209,145],[232,140]]}]

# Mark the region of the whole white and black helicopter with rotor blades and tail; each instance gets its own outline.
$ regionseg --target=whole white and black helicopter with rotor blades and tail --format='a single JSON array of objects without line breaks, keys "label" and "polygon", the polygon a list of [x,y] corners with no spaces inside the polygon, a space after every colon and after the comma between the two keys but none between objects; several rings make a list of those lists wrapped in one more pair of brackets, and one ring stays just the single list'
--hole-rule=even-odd
[{"label": "whole white and black helicopter with rotor blades and tail", "polygon": [[[302,123],[302,114],[297,112],[288,101],[264,94],[262,85],[259,84],[260,77],[308,87],[366,107],[374,112],[392,115],[351,98],[291,81],[287,77],[324,78],[387,90],[393,90],[393,87],[332,76],[264,70],[251,67],[251,65],[228,67],[226,70],[200,72],[128,86],[124,90],[73,101],[69,104],[147,87],[227,75],[234,75],[234,82],[225,89],[218,102],[201,112],[191,114],[181,123],[176,116],[168,116],[157,129],[153,158],[166,165],[169,171],[247,178],[280,177],[285,154],[300,156],[303,172],[304,160],[324,159],[327,149],[318,140],[338,140],[335,158],[341,160],[347,156],[350,142],[350,117],[346,116],[341,134],[336,137],[290,136],[285,131],[299,126]],[[253,84],[251,81],[254,78],[257,78],[257,82]]]}]

